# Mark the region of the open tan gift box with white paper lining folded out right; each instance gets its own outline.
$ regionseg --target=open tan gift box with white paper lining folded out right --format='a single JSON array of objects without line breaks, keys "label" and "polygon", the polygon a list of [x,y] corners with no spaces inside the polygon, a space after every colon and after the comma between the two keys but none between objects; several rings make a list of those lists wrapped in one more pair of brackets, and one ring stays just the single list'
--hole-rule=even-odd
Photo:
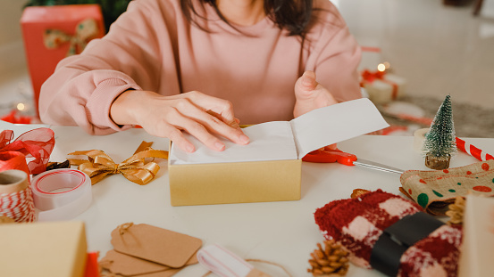
[{"label": "open tan gift box with white paper lining folded out right", "polygon": [[[338,118],[325,120],[324,118]],[[212,151],[185,134],[194,153],[170,146],[172,206],[300,200],[301,159],[310,151],[388,124],[368,99],[313,110],[291,121],[249,126],[251,143]]]}]

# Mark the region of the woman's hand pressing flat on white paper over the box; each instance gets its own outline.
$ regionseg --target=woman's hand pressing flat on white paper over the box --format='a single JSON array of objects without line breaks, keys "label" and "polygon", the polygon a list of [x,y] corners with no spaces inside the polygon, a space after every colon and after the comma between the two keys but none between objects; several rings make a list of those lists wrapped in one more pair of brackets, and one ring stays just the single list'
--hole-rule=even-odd
[{"label": "woman's hand pressing flat on white paper over the box", "polygon": [[119,125],[140,125],[147,133],[170,138],[181,150],[196,151],[183,131],[194,135],[215,151],[223,151],[221,135],[233,143],[247,144],[249,139],[233,115],[231,102],[193,91],[163,96],[149,91],[129,90],[110,108],[110,116]]}]

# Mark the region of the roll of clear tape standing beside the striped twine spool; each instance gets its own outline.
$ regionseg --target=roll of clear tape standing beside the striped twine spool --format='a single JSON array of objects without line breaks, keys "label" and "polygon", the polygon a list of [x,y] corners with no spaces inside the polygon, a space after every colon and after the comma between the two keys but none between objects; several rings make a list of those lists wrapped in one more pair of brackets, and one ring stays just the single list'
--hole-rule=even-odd
[{"label": "roll of clear tape standing beside the striped twine spool", "polygon": [[84,172],[54,169],[33,178],[34,205],[38,221],[67,220],[85,211],[92,200],[91,179]]}]

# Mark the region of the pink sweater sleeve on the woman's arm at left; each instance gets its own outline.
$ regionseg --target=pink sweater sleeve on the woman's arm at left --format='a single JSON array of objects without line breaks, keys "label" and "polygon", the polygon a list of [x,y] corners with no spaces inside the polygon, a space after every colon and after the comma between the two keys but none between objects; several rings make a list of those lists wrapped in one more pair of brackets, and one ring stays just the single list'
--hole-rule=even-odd
[{"label": "pink sweater sleeve on the woman's arm at left", "polygon": [[151,24],[148,7],[130,3],[128,12],[104,38],[91,41],[80,55],[61,61],[41,87],[41,120],[78,125],[89,134],[129,128],[113,122],[110,107],[126,90],[155,89],[152,84],[157,82],[152,81],[159,77],[161,65]]}]

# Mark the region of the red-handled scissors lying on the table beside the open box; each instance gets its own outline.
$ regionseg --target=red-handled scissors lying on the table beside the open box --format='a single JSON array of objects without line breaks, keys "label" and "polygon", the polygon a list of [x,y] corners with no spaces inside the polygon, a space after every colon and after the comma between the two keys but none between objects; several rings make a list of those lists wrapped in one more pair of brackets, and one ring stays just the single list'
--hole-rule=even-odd
[{"label": "red-handled scissors lying on the table beside the open box", "polygon": [[308,161],[308,162],[317,162],[317,163],[332,163],[332,162],[338,162],[342,165],[346,166],[362,166],[362,167],[369,167],[381,171],[386,171],[386,172],[391,172],[391,173],[397,173],[397,174],[402,174],[405,172],[402,169],[396,168],[396,167],[389,167],[386,165],[382,165],[380,163],[376,163],[370,160],[366,159],[357,159],[356,155],[350,154],[344,151],[340,151],[339,149],[336,150],[316,150],[312,151],[304,158],[302,158],[303,161]]}]

